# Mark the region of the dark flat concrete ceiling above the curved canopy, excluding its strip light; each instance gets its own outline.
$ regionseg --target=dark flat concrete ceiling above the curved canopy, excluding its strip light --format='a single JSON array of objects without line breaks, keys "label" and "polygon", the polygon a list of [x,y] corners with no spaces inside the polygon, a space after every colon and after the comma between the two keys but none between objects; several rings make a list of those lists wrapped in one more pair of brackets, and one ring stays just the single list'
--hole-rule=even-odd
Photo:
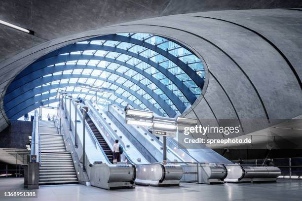
[{"label": "dark flat concrete ceiling above the curved canopy, excluding its strip light", "polygon": [[134,20],[213,10],[298,7],[301,0],[1,0],[0,19],[35,35],[0,25],[0,61],[50,39]]}]

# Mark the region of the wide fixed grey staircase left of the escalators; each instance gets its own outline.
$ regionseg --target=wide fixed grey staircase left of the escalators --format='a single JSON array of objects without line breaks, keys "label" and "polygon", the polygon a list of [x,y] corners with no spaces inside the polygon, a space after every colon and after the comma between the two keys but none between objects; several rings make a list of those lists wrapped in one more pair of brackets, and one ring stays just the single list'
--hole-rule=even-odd
[{"label": "wide fixed grey staircase left of the escalators", "polygon": [[73,159],[54,121],[39,121],[41,166],[39,184],[77,183]]}]

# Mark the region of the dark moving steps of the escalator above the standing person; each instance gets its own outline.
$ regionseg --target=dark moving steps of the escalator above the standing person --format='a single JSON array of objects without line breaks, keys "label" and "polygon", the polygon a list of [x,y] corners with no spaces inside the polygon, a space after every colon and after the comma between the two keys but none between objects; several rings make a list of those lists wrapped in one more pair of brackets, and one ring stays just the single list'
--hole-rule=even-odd
[{"label": "dark moving steps of the escalator above the standing person", "polygon": [[95,137],[99,141],[99,143],[100,143],[102,149],[104,150],[107,158],[109,159],[109,161],[111,163],[113,163],[113,152],[112,152],[112,150],[110,149],[110,147],[108,146],[108,144],[105,141],[104,137],[102,136],[102,134],[100,134],[99,130],[96,128],[96,126],[94,125],[94,123],[92,122],[91,118],[89,117],[89,115],[87,113],[85,114],[85,120],[87,121],[91,131],[93,132],[93,134],[95,135]]}]

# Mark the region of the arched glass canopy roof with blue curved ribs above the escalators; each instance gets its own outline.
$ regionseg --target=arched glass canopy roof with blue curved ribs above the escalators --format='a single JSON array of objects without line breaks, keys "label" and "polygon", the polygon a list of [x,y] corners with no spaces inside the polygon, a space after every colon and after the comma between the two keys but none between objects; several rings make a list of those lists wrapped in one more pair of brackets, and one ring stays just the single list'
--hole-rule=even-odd
[{"label": "arched glass canopy roof with blue curved ribs above the escalators", "polygon": [[[173,117],[200,96],[204,79],[200,59],[180,44],[149,33],[117,33],[76,42],[38,59],[8,87],[4,105],[8,116],[19,118],[41,102],[58,101],[62,90],[74,98],[129,103]],[[96,94],[77,82],[110,88],[114,94]],[[20,108],[13,112],[16,105]]]}]

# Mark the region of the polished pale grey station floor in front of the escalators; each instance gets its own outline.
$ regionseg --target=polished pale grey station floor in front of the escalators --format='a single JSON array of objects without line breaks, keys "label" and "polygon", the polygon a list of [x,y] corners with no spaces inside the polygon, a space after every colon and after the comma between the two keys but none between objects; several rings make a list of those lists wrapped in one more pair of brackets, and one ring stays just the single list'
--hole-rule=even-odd
[{"label": "polished pale grey station floor in front of the escalators", "polygon": [[40,186],[38,198],[8,198],[5,191],[23,190],[22,178],[0,178],[0,201],[301,201],[302,180],[277,183],[145,187],[104,190],[80,184]]}]

